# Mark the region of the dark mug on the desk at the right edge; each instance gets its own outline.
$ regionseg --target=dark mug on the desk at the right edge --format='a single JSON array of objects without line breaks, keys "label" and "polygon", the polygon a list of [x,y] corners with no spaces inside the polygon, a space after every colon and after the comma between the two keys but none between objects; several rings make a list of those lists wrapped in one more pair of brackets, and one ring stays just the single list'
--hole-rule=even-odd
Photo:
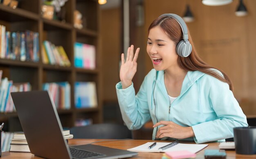
[{"label": "dark mug on the desk at the right edge", "polygon": [[256,126],[235,127],[234,142],[237,154],[256,154]]}]

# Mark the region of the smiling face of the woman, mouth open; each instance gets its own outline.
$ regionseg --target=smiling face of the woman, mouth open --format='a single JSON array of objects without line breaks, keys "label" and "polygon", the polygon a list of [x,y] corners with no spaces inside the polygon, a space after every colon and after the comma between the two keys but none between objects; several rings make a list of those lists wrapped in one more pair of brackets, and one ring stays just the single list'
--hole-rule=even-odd
[{"label": "smiling face of the woman, mouth open", "polygon": [[148,33],[147,52],[157,71],[178,66],[176,45],[160,26],[150,29]]}]

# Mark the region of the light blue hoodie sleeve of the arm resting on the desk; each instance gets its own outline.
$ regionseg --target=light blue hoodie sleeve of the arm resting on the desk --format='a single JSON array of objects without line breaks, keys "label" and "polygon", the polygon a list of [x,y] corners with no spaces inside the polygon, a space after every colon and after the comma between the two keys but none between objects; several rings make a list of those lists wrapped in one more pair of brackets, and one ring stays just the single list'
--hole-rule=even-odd
[{"label": "light blue hoodie sleeve of the arm resting on the desk", "polygon": [[246,116],[227,83],[214,78],[209,88],[209,100],[216,120],[192,126],[197,144],[234,137],[234,127],[248,126]]}]

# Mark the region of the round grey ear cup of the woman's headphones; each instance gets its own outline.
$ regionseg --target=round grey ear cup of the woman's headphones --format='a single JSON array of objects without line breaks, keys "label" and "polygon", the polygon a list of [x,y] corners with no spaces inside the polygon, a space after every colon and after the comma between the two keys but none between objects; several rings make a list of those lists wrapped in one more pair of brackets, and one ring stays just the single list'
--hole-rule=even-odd
[{"label": "round grey ear cup of the woman's headphones", "polygon": [[188,57],[192,52],[192,45],[188,40],[181,40],[176,47],[176,52],[181,57]]}]

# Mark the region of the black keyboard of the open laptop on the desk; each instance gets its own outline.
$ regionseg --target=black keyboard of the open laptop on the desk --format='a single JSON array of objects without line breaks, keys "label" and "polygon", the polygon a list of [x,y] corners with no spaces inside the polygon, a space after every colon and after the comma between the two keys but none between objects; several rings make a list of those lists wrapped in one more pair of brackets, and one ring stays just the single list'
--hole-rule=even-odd
[{"label": "black keyboard of the open laptop on the desk", "polygon": [[70,147],[70,152],[73,159],[94,159],[94,158],[106,156],[101,153],[81,150],[81,149],[72,148],[72,147]]}]

